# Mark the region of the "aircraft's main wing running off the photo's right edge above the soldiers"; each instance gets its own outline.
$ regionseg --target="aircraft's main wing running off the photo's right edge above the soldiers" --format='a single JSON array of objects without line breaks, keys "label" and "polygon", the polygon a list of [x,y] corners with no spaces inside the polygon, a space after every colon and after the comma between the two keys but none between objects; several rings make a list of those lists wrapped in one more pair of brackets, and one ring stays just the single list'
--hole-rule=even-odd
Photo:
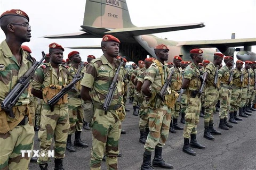
[{"label": "aircraft's main wing running off the photo's right edge above the soldiers", "polygon": [[196,48],[211,48],[211,47],[239,47],[239,46],[255,46],[256,38],[241,38],[241,39],[220,39],[220,40],[200,40],[200,41],[180,41],[177,46],[189,46]]}]

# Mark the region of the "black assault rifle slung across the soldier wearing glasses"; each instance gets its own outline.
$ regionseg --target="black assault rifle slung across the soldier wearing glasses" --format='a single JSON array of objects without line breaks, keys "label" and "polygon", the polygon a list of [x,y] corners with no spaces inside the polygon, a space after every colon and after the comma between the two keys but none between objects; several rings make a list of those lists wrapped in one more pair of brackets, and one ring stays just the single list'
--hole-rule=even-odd
[{"label": "black assault rifle slung across the soldier wearing glasses", "polygon": [[12,118],[14,118],[12,107],[17,103],[22,92],[28,88],[28,85],[31,82],[30,80],[33,79],[33,75],[35,74],[37,67],[41,65],[45,58],[44,52],[42,52],[42,55],[43,58],[39,62],[36,61],[28,71],[19,78],[17,84],[1,103],[1,108]]}]

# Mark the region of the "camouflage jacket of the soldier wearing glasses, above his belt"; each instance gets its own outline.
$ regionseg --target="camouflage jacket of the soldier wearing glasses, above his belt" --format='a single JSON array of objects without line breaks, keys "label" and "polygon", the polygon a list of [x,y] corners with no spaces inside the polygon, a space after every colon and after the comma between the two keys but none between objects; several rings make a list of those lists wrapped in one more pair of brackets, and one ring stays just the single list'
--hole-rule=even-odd
[{"label": "camouflage jacket of the soldier wearing glasses, above his belt", "polygon": [[[31,61],[27,60],[26,54],[20,49],[22,55],[21,64],[13,56],[6,41],[0,44],[0,102],[9,94],[13,87],[17,84],[18,79],[33,65]],[[19,97],[15,106],[29,104],[28,90],[24,90]]]}]

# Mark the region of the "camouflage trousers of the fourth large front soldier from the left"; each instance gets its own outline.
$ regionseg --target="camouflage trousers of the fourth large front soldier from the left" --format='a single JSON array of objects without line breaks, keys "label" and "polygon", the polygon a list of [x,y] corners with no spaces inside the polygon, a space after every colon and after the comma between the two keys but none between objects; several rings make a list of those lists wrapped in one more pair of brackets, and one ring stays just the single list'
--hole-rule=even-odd
[{"label": "camouflage trousers of the fourth large front soldier from the left", "polygon": [[164,105],[161,108],[150,109],[148,117],[149,133],[144,148],[148,151],[154,151],[155,147],[163,147],[168,139],[171,109]]}]

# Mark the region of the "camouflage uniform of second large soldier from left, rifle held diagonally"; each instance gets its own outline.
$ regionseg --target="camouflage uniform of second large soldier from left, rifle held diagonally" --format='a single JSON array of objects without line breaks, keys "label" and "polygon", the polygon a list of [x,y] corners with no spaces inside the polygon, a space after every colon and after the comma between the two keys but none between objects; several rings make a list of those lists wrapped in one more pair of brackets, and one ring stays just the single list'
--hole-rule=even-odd
[{"label": "camouflage uniform of second large soldier from left, rifle held diagonally", "polygon": [[[50,87],[50,85],[64,86],[68,80],[72,79],[68,76],[68,70],[65,66],[59,65],[58,70],[57,73],[50,63],[43,64],[36,70],[32,86],[35,90],[43,91],[43,97],[47,95],[44,93],[44,89]],[[50,150],[52,139],[54,139],[55,158],[64,158],[69,130],[67,103],[54,105],[54,111],[51,112],[50,106],[43,100],[40,129],[38,131],[40,149],[43,151]],[[46,154],[46,157],[39,157],[37,163],[46,164],[49,160],[50,158]]]}]

